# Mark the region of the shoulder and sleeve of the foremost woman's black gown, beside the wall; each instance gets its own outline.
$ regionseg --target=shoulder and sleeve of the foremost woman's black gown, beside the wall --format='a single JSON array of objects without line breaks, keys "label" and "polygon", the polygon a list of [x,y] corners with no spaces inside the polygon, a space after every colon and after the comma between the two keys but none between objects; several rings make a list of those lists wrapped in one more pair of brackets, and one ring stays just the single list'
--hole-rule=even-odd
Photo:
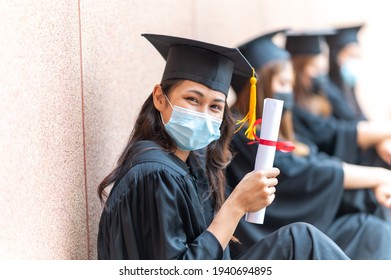
[{"label": "shoulder and sleeve of the foremost woman's black gown, beside the wall", "polygon": [[141,144],[137,149],[143,152],[115,183],[102,213],[98,257],[223,258],[220,243],[206,230],[208,200],[187,165],[156,144]]}]

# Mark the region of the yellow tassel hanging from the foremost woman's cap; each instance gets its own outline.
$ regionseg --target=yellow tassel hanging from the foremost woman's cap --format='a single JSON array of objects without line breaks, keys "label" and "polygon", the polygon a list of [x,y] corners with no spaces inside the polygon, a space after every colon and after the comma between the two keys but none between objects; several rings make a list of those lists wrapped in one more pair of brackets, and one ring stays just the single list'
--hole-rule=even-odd
[{"label": "yellow tassel hanging from the foremost woman's cap", "polygon": [[245,122],[248,122],[248,128],[245,131],[244,135],[250,140],[255,139],[256,135],[256,126],[254,125],[257,118],[257,78],[255,77],[255,70],[253,68],[253,76],[250,78],[250,104],[247,115],[243,119],[237,121],[237,125],[240,124],[240,127],[235,131],[238,132]]}]

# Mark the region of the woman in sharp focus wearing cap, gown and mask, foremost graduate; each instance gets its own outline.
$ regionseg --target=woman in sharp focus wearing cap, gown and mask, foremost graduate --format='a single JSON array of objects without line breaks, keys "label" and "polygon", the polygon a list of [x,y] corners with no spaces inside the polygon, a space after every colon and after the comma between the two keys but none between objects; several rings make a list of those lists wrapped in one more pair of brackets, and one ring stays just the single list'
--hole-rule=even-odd
[{"label": "woman in sharp focus wearing cap, gown and mask, foremost graduate", "polygon": [[273,201],[279,173],[250,172],[225,197],[224,168],[235,129],[226,97],[232,75],[250,78],[252,67],[237,49],[143,36],[166,67],[117,166],[98,187],[105,200],[105,188],[113,184],[99,223],[98,258],[346,259],[332,240],[305,223],[231,255],[241,218]]}]

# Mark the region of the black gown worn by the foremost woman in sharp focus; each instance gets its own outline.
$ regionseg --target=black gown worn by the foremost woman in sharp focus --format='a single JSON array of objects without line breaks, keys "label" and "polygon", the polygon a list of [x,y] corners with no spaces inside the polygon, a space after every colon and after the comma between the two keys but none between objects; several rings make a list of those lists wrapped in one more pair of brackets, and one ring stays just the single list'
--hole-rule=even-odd
[{"label": "black gown worn by the foremost woman in sharp focus", "polygon": [[223,250],[207,231],[213,201],[205,196],[207,180],[196,155],[191,153],[186,164],[150,141],[138,142],[134,150],[100,219],[99,259],[347,258],[332,240],[302,223],[231,256],[229,247]]}]

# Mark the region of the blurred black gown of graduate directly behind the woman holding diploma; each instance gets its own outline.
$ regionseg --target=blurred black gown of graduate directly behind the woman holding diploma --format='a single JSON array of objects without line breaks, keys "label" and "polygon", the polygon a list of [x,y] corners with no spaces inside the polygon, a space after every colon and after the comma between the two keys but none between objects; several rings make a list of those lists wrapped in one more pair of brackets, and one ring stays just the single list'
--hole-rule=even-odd
[{"label": "blurred black gown of graduate directly behind the woman holding diploma", "polygon": [[[231,186],[254,169],[257,145],[247,142],[243,131],[232,141],[236,154],[226,171]],[[232,252],[245,250],[267,232],[301,221],[323,231],[352,259],[391,259],[390,226],[365,212],[337,216],[344,194],[341,161],[307,144],[311,148],[307,157],[276,152],[274,166],[281,172],[276,198],[266,209],[264,224],[247,225],[246,232],[237,230],[235,235],[245,242],[233,246]]]}]

